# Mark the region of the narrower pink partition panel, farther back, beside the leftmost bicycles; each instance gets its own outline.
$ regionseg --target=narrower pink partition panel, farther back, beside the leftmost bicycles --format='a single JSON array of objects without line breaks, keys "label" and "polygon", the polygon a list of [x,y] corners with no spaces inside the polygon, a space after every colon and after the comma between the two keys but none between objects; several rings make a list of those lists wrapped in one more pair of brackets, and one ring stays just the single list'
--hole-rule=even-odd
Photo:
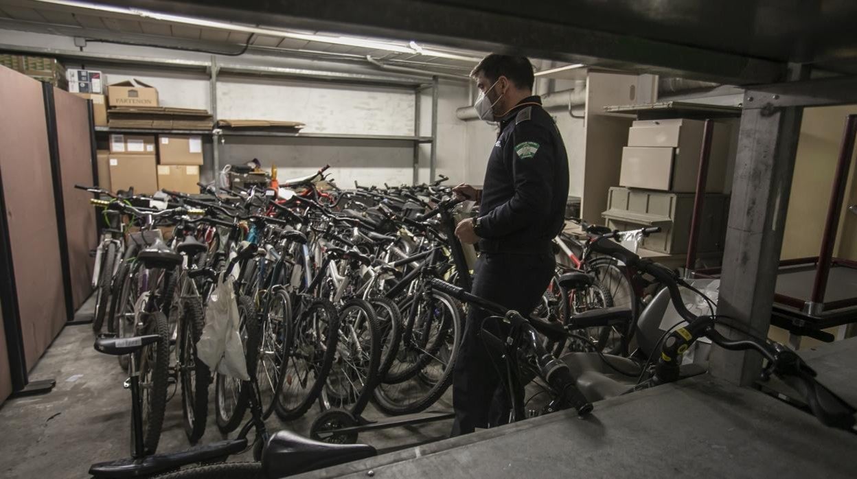
[{"label": "narrower pink partition panel, farther back, beside the leftmost bicycles", "polygon": [[89,251],[98,242],[95,230],[95,209],[89,205],[93,197],[75,184],[93,183],[93,149],[90,144],[87,100],[54,88],[57,112],[57,149],[63,180],[65,229],[69,241],[69,272],[71,272],[72,302],[75,310],[93,292],[94,260]]}]

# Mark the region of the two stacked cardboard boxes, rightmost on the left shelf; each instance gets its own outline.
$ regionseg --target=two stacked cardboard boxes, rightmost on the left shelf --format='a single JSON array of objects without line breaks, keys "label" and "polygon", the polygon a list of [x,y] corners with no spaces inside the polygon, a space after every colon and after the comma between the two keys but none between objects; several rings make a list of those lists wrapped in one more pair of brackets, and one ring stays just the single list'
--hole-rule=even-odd
[{"label": "two stacked cardboard boxes, rightmost on the left shelf", "polygon": [[199,193],[202,137],[159,135],[158,187],[182,193]]}]

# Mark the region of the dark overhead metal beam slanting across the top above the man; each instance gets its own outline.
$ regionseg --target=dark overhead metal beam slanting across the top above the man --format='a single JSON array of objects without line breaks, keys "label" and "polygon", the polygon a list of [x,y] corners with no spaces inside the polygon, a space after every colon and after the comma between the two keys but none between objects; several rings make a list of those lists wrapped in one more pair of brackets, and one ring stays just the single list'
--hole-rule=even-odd
[{"label": "dark overhead metal beam slanting across the top above the man", "polygon": [[[729,84],[781,81],[785,64],[722,51],[596,31],[461,3],[405,0],[305,2],[248,0],[113,0],[106,3],[272,27],[307,28],[389,39],[417,40],[479,51]],[[238,5],[238,6],[237,6]],[[554,8],[556,5],[554,5]],[[567,9],[571,9],[569,4]],[[564,13],[569,13],[565,10]]]}]

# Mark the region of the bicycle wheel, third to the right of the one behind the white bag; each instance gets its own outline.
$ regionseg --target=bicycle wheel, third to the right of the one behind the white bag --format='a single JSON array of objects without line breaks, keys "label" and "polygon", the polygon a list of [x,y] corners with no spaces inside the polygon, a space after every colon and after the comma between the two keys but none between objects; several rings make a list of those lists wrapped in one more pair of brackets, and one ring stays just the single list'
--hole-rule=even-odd
[{"label": "bicycle wheel, third to the right of the one behind the white bag", "polygon": [[352,298],[339,312],[339,340],[322,390],[322,404],[327,409],[348,407],[354,414],[363,412],[378,380],[380,363],[381,333],[375,308]]}]

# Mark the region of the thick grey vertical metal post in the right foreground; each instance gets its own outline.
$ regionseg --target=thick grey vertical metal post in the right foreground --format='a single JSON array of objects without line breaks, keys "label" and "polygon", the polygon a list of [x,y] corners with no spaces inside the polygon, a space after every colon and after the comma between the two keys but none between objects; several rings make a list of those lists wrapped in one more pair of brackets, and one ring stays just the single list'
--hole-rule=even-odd
[{"label": "thick grey vertical metal post in the right foreground", "polygon": [[[802,112],[751,109],[741,116],[717,313],[762,338],[770,327]],[[761,366],[755,351],[711,352],[711,374],[743,386],[758,379]]]}]

